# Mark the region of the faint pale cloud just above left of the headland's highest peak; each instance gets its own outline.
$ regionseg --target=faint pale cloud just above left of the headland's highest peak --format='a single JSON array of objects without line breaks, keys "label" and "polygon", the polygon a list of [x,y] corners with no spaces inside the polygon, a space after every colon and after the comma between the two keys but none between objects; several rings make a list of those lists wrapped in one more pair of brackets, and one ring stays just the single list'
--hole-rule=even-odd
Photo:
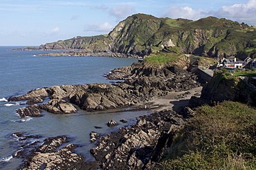
[{"label": "faint pale cloud just above left of the headland's highest peak", "polygon": [[125,19],[135,12],[136,10],[133,6],[117,6],[109,10],[109,14],[113,17],[116,17],[116,21]]}]

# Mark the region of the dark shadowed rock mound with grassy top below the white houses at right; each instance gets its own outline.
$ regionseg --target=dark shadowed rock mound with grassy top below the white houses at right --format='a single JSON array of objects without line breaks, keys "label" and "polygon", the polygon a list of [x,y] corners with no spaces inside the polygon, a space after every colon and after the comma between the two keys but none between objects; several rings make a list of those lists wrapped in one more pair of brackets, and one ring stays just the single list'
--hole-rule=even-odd
[{"label": "dark shadowed rock mound with grassy top below the white houses at right", "polygon": [[253,78],[240,78],[230,74],[228,70],[219,70],[205,84],[201,97],[196,98],[194,96],[190,99],[189,106],[215,105],[216,103],[222,103],[224,100],[232,100],[255,107],[255,85]]}]

